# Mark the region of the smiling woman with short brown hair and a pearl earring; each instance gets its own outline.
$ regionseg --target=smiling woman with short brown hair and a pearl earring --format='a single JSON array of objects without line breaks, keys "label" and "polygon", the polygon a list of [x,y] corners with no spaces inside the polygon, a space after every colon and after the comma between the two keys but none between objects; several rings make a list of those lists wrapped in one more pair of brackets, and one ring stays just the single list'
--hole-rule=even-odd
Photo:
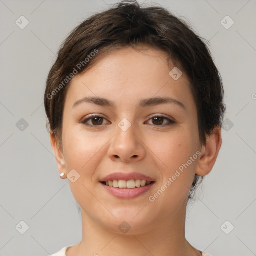
[{"label": "smiling woman with short brown hair and a pearl earring", "polygon": [[222,101],[205,43],[164,8],[123,1],[77,26],[44,104],[83,231],[54,256],[207,255],[185,214],[221,146]]}]

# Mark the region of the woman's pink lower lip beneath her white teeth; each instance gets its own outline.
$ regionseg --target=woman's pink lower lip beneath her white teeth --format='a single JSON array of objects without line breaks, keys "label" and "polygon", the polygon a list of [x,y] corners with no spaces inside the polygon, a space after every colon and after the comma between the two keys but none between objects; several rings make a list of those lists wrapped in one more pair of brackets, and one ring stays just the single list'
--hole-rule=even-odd
[{"label": "woman's pink lower lip beneath her white teeth", "polygon": [[136,188],[115,188],[112,186],[107,186],[104,185],[103,183],[99,182],[110,194],[117,198],[125,198],[125,199],[130,199],[130,198],[135,198],[138,197],[139,195],[147,192],[149,189],[152,188],[152,186],[155,184],[155,182],[146,185],[146,186],[140,186]]}]

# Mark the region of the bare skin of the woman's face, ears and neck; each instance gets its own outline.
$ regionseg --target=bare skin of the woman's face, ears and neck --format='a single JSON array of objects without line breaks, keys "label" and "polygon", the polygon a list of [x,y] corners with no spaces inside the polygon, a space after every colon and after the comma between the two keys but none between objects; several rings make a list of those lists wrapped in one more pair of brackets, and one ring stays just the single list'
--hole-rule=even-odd
[{"label": "bare skin of the woman's face, ears and neck", "polygon": [[[200,143],[188,78],[183,72],[174,80],[169,75],[174,65],[166,63],[167,55],[161,50],[124,47],[71,80],[63,110],[62,145],[50,136],[59,173],[64,172],[66,178],[75,169],[80,175],[76,182],[68,182],[81,207],[82,240],[67,249],[67,256],[200,255],[185,238],[187,196],[195,173],[204,176],[211,171],[221,146],[221,131],[216,127],[206,144]],[[116,107],[89,102],[73,107],[85,96],[106,98]],[[165,96],[185,108],[175,103],[138,106],[141,99]],[[95,119],[88,122],[93,127],[82,123],[93,113],[104,118],[101,125]],[[151,119],[154,114],[176,123],[160,118],[163,124],[157,125]],[[127,131],[118,127],[123,118],[131,124]],[[198,150],[201,155],[150,202],[148,197]],[[156,183],[139,197],[118,199],[99,183],[117,171],[139,172]],[[123,221],[131,226],[126,234],[118,228]]]}]

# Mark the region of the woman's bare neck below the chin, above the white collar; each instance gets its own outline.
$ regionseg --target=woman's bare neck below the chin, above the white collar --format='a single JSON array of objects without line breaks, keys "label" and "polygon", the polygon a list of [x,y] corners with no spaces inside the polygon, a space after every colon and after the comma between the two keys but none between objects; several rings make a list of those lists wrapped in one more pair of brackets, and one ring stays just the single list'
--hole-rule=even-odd
[{"label": "woman's bare neck below the chin, above the white collar", "polygon": [[126,234],[102,226],[81,210],[82,240],[67,250],[67,256],[199,256],[185,239],[185,210],[175,216],[162,216],[150,228],[130,229]]}]

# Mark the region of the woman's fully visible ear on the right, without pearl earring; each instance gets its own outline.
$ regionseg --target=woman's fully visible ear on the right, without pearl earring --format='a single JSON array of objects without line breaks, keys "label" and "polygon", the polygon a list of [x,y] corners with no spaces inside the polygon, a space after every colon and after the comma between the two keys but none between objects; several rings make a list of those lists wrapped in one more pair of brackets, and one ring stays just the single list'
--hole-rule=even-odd
[{"label": "woman's fully visible ear on the right, without pearl earring", "polygon": [[216,126],[213,132],[206,136],[206,143],[201,147],[201,156],[195,170],[197,175],[205,176],[211,171],[217,159],[221,143],[221,127]]}]

